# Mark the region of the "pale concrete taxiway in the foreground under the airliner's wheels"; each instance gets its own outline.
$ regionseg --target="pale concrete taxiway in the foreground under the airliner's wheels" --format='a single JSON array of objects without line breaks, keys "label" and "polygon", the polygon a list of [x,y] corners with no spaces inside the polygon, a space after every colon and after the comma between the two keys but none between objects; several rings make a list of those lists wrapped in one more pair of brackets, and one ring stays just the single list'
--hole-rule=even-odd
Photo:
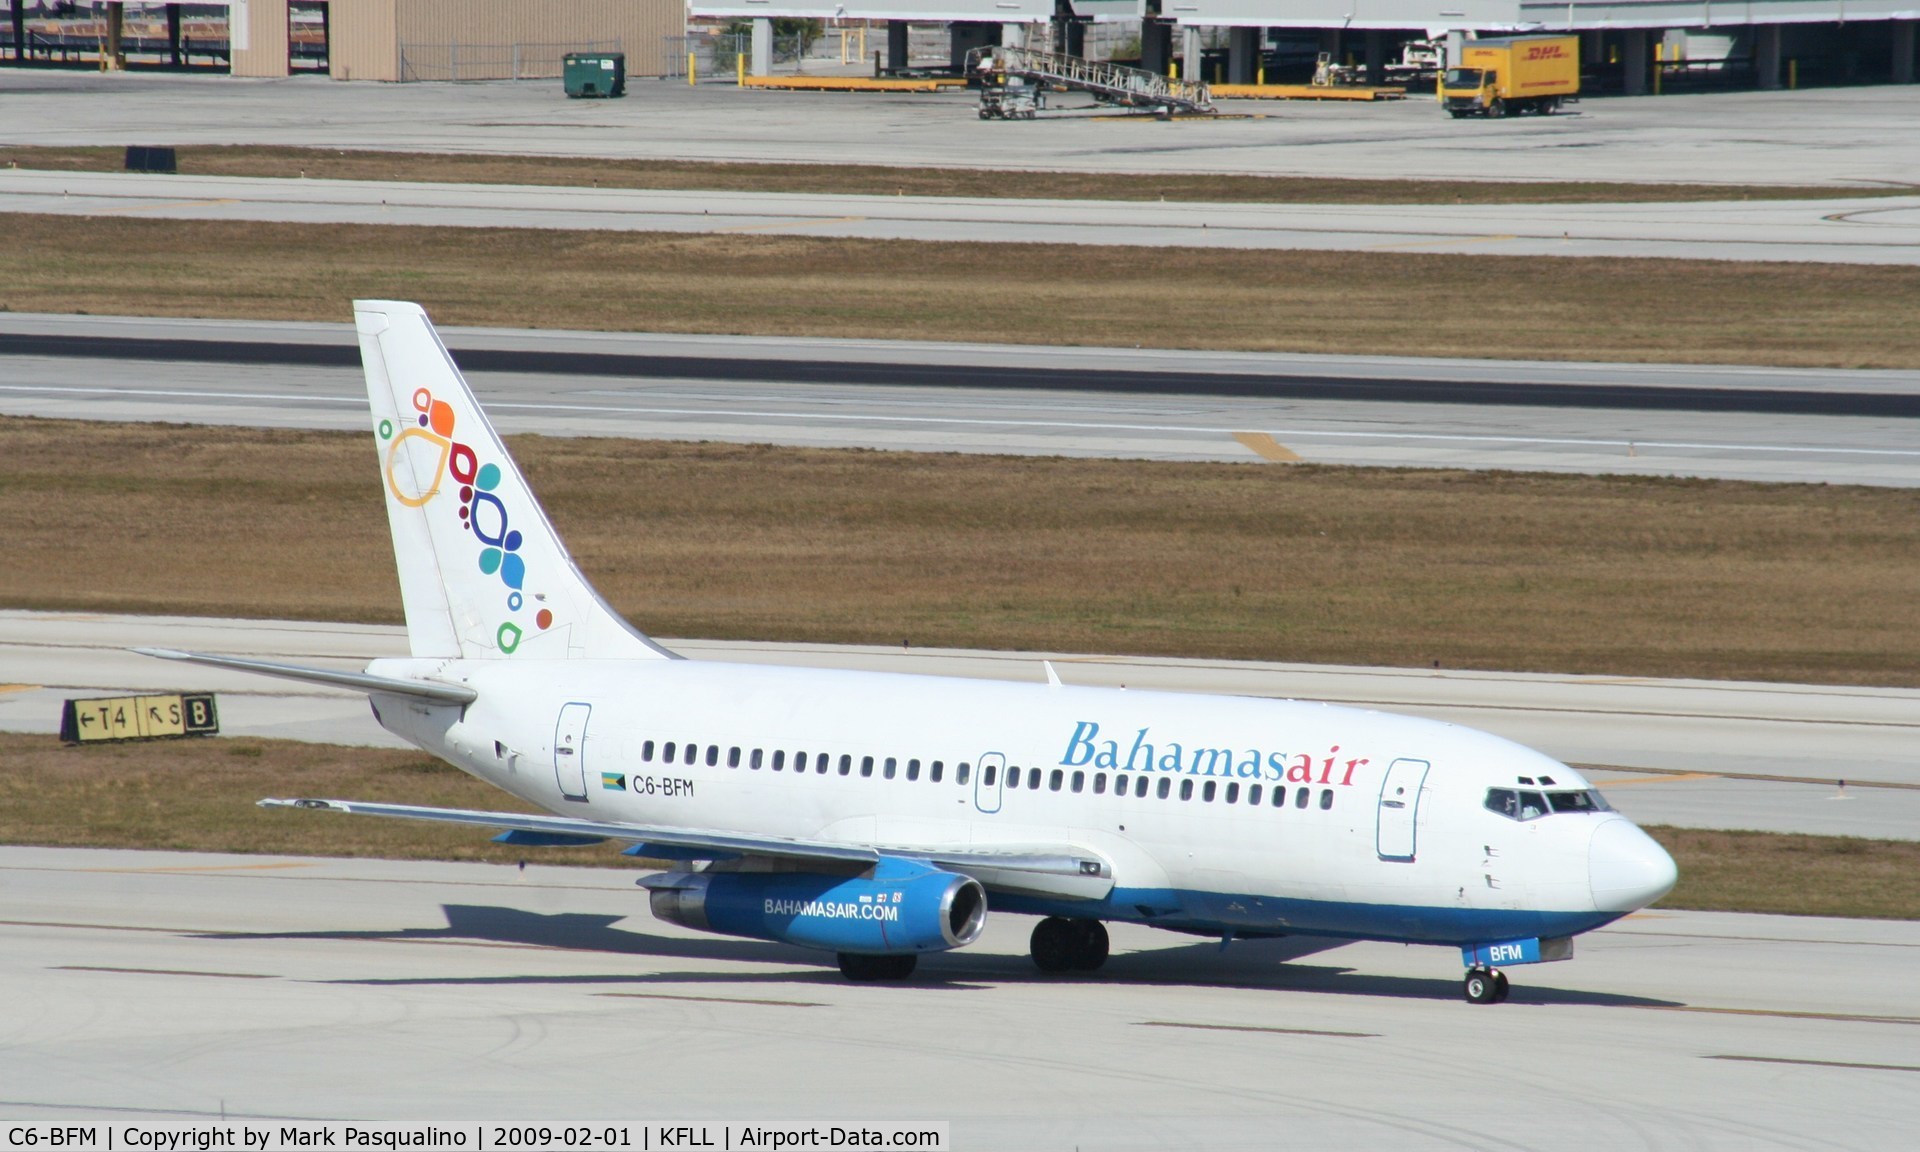
[{"label": "pale concrete taxiway in the foreground under the airliner's wheels", "polygon": [[[290,814],[288,818],[300,818]],[[624,870],[0,849],[15,1119],[947,1119],[954,1148],[1899,1148],[1910,922],[1649,910],[1459,998],[1448,948],[1029,918],[851,985]]]}]

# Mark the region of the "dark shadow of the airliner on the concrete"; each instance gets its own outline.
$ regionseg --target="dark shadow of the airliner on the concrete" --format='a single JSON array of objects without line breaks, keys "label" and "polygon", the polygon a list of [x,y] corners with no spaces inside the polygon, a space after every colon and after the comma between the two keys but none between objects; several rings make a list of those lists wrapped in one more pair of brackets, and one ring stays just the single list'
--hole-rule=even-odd
[{"label": "dark shadow of the airliner on the concrete", "polygon": [[[355,985],[839,985],[843,977],[822,952],[789,945],[741,941],[724,937],[666,937],[628,927],[614,927],[630,916],[597,912],[526,912],[488,904],[442,904],[445,927],[401,929],[336,929],[290,933],[204,933],[207,939],[315,939],[315,941],[478,941],[492,945],[522,945],[570,952],[612,952],[626,956],[655,956],[676,960],[783,964],[801,970],[781,972],[622,972],[622,973],[553,973],[553,975],[447,975],[403,979],[342,979]],[[1396,996],[1415,1000],[1452,1000],[1459,996],[1459,979],[1448,975],[1404,977],[1373,975],[1338,964],[1300,964],[1298,960],[1344,947],[1346,941],[1288,937],[1236,941],[1227,950],[1213,941],[1117,952],[1098,973],[1043,975],[1025,956],[1002,952],[939,952],[925,956],[906,985],[914,989],[987,991],[998,983],[1104,983],[1156,987],[1221,987],[1250,991],[1332,993],[1354,996]],[[887,987],[887,985],[874,985]],[[1532,987],[1515,983],[1515,1004],[1588,1004],[1588,1006],[1676,1006],[1674,1000],[1622,996],[1574,989]]]}]

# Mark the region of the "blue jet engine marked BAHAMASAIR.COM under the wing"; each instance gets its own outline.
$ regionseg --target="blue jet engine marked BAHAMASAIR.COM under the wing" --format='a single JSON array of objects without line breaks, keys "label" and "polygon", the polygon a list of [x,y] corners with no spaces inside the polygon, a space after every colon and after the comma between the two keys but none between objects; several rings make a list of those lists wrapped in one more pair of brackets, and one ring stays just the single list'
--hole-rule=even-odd
[{"label": "blue jet engine marked BAHAMASAIR.COM under the wing", "polygon": [[668,924],[833,952],[945,952],[987,925],[977,879],[916,860],[881,858],[862,876],[668,872],[639,883]]}]

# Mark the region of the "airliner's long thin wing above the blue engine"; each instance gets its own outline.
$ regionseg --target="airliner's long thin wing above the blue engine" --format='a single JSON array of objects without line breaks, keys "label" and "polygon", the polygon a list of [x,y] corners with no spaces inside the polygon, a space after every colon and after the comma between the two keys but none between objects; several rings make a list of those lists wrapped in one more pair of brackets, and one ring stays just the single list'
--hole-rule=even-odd
[{"label": "airliner's long thin wing above the blue engine", "polygon": [[[482,812],[472,808],[422,808],[417,804],[374,804],[361,801],[259,801],[261,808],[305,808],[311,812],[344,812],[355,816],[392,816],[399,820],[430,820],[465,824],[468,828],[497,828],[553,837],[547,843],[591,843],[601,839],[645,845],[685,858],[768,856],[780,860],[814,860],[839,864],[874,864],[881,856],[924,860],[947,872],[972,876],[987,891],[1060,897],[1069,900],[1098,900],[1114,889],[1114,866],[1073,845],[1008,845],[1008,847],[925,847],[925,845],[849,845],[837,841],[808,841],[770,835],[741,835],[697,828],[647,828],[609,820],[578,820],[572,816],[534,816],[526,812]],[[710,856],[701,856],[710,852]]]}]

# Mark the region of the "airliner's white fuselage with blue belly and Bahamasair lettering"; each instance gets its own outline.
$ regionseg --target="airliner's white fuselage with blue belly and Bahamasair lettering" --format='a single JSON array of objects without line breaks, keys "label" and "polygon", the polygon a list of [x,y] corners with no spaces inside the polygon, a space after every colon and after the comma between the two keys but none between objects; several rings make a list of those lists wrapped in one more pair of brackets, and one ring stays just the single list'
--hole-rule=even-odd
[{"label": "airliner's white fuselage with blue belly and Bahamasair lettering", "polygon": [[1079,845],[1114,866],[1094,910],[996,895],[1008,910],[1465,945],[1572,935],[1659,895],[1605,881],[1622,864],[1603,839],[1651,845],[1619,814],[1488,808],[1488,789],[1588,789],[1576,772],[1432,720],[691,660],[369,670],[474,687],[465,708],[376,710],[549,812],[881,849]]}]

